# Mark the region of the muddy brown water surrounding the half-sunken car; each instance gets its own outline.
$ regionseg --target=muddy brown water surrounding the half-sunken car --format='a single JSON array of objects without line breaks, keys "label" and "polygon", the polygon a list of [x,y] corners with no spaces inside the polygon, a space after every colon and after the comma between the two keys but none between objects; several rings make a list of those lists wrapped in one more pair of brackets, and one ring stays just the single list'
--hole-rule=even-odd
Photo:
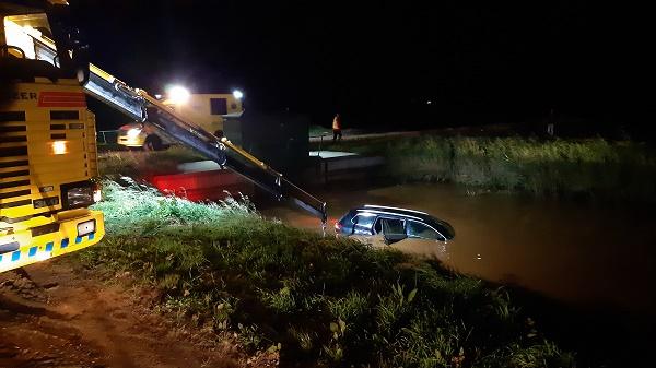
[{"label": "muddy brown water surrounding the half-sunken car", "polygon": [[[425,211],[456,229],[449,266],[488,281],[512,283],[570,305],[653,316],[656,311],[656,221],[649,207],[505,193],[477,194],[449,185],[332,189],[329,234],[361,204]],[[265,216],[318,229],[318,221],[289,206]]]}]

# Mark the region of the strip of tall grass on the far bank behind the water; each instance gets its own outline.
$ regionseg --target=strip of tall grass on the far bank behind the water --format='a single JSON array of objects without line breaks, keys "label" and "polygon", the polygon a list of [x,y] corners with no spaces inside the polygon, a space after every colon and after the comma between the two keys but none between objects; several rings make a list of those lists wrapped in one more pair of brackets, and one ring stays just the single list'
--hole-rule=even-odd
[{"label": "strip of tall grass on the far bank behind the water", "polygon": [[399,180],[656,201],[656,152],[635,142],[427,135],[344,141],[329,149],[383,155],[385,175]]}]

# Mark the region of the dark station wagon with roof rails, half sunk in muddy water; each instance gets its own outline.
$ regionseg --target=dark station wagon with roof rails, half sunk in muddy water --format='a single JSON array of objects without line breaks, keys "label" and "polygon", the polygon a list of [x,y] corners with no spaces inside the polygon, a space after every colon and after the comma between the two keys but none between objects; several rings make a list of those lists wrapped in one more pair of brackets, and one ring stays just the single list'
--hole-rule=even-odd
[{"label": "dark station wagon with roof rails, half sunk in muddy water", "polygon": [[425,212],[372,204],[349,211],[335,224],[335,232],[372,246],[395,245],[425,256],[444,253],[444,247],[435,246],[444,246],[456,236],[453,226]]}]

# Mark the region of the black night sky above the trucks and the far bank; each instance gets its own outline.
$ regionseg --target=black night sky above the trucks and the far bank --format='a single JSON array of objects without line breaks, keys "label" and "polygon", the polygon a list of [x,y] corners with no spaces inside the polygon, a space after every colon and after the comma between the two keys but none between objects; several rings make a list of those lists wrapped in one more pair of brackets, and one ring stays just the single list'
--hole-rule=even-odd
[{"label": "black night sky above the trucks and the far bank", "polygon": [[[92,60],[151,93],[239,87],[249,108],[352,126],[630,120],[621,12],[573,1],[71,1]],[[426,3],[426,4],[423,4]],[[433,4],[427,4],[433,3]],[[435,4],[436,3],[436,4]],[[432,100],[426,105],[426,100]]]}]

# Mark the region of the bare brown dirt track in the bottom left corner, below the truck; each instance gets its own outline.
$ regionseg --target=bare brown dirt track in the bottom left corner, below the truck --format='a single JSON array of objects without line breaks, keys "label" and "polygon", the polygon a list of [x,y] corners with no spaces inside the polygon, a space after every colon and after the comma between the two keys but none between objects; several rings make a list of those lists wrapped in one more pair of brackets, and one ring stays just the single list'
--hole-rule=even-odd
[{"label": "bare brown dirt track in the bottom left corner, below the truck", "polygon": [[66,258],[0,274],[0,367],[249,366],[234,344],[153,312],[153,292],[120,285]]}]

